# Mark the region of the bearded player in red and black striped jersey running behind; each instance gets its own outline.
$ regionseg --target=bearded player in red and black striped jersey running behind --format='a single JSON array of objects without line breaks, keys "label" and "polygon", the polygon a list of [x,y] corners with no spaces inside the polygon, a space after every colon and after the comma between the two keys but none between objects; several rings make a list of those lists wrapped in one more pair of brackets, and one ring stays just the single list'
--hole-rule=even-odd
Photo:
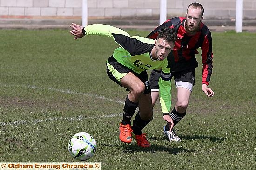
[{"label": "bearded player in red and black striped jersey running behind", "polygon": [[[171,76],[174,77],[177,88],[177,101],[170,115],[163,115],[168,123],[164,126],[164,135],[169,141],[181,141],[173,131],[175,126],[186,114],[190,94],[195,84],[195,68],[198,66],[195,55],[197,49],[202,50],[202,91],[207,97],[212,97],[214,92],[208,87],[212,74],[212,38],[206,25],[202,23],[203,6],[199,3],[192,3],[188,6],[186,17],[175,17],[168,19],[165,23],[155,28],[147,38],[155,39],[157,31],[163,26],[174,28],[177,32],[175,47],[168,57],[171,58]],[[159,96],[157,82],[160,72],[153,70],[150,75],[150,88],[152,104]],[[160,98],[161,100],[161,98]],[[171,121],[173,120],[173,121]]]}]

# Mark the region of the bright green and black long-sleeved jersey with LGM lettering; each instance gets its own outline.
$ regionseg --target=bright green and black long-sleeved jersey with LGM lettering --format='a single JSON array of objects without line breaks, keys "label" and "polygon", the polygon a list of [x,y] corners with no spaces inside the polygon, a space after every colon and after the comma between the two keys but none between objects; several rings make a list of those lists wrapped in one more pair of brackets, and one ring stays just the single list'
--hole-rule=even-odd
[{"label": "bright green and black long-sleeved jersey with LGM lettering", "polygon": [[111,37],[120,46],[114,50],[113,57],[118,63],[128,67],[135,73],[141,73],[148,69],[162,70],[159,79],[159,95],[163,113],[169,113],[171,107],[171,82],[170,65],[167,58],[154,60],[151,50],[154,48],[155,40],[130,35],[113,26],[93,24],[84,27],[85,35],[101,35]]}]

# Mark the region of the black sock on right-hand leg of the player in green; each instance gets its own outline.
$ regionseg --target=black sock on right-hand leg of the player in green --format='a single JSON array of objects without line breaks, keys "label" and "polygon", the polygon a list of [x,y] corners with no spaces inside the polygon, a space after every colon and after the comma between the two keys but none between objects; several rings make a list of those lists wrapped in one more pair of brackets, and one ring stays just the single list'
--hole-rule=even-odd
[{"label": "black sock on right-hand leg of the player in green", "polygon": [[[152,120],[152,119],[151,119]],[[133,133],[135,135],[141,135],[142,134],[142,129],[148,125],[148,123],[151,121],[151,120],[148,120],[148,121],[145,121],[145,120],[142,120],[141,117],[140,117],[140,111],[136,114],[135,116],[135,119],[133,121],[133,126],[132,126],[132,130],[133,130]]]}]

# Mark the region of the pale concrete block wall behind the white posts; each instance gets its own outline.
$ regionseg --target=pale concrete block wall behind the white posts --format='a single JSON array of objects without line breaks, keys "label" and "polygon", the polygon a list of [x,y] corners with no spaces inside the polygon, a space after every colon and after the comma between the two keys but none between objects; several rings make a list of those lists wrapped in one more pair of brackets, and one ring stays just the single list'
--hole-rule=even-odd
[{"label": "pale concrete block wall behind the white posts", "polygon": [[[0,0],[0,18],[81,17],[82,0]],[[167,0],[168,17],[184,16],[194,0]],[[235,18],[236,0],[197,0],[206,19]],[[88,0],[89,18],[159,17],[160,0]],[[256,0],[243,0],[243,18],[256,19]]]}]

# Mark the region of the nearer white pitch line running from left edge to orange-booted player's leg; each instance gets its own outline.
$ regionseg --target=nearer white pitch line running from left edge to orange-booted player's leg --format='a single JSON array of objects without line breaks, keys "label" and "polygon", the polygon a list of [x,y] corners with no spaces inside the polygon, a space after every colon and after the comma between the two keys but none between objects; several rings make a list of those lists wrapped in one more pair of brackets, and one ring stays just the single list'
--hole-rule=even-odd
[{"label": "nearer white pitch line running from left edge to orange-booted player's leg", "polygon": [[53,121],[61,121],[61,120],[74,121],[74,120],[85,120],[85,119],[113,118],[121,115],[122,113],[113,113],[113,114],[106,114],[103,116],[53,117],[53,118],[46,118],[43,120],[40,120],[40,119],[16,120],[13,122],[0,122],[0,126],[19,126],[19,125],[38,124],[43,122],[53,122]]}]

